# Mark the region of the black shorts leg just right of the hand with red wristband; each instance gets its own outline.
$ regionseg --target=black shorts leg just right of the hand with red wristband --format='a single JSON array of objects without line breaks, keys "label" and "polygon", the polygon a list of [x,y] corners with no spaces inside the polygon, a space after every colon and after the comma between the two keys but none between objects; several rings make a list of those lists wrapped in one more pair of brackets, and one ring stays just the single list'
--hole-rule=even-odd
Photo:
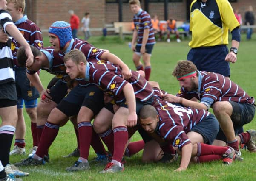
[{"label": "black shorts leg just right of the hand with red wristband", "polygon": [[68,93],[67,83],[60,79],[56,82],[54,86],[51,87],[50,91],[51,91],[50,96],[52,97],[52,101],[54,101],[56,104],[59,104],[60,101]]}]

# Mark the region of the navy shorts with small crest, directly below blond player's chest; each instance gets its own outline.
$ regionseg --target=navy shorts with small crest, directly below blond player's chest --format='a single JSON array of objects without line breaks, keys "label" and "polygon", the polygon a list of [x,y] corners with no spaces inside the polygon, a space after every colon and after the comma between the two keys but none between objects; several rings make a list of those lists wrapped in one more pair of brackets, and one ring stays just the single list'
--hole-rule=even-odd
[{"label": "navy shorts with small crest, directly below blond player's chest", "polygon": [[95,85],[77,85],[60,101],[57,108],[69,117],[77,115],[81,106],[86,106],[97,115],[104,106],[103,92]]}]

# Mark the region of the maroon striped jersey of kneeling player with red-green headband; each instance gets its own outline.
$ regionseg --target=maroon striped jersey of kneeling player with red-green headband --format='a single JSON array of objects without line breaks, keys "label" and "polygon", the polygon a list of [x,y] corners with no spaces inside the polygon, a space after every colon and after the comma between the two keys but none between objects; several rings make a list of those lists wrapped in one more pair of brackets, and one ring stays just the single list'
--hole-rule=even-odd
[{"label": "maroon striped jersey of kneeling player with red-green headband", "polygon": [[216,101],[234,101],[254,105],[255,100],[241,87],[221,74],[198,71],[198,90],[188,92],[181,87],[177,96],[191,99],[196,97],[210,107]]}]

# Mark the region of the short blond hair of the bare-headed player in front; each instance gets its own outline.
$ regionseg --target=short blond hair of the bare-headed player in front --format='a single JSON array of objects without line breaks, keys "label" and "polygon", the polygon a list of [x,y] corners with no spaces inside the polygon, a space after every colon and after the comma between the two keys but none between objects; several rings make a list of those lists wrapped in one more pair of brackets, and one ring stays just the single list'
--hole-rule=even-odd
[{"label": "short blond hair of the bare-headed player in front", "polygon": [[79,64],[80,62],[83,62],[83,63],[87,63],[86,61],[86,57],[85,55],[83,54],[83,52],[81,52],[80,50],[78,49],[74,49],[74,50],[71,50],[69,53],[67,53],[65,56],[64,56],[64,63],[68,60],[72,60],[73,62],[75,62],[75,64]]}]

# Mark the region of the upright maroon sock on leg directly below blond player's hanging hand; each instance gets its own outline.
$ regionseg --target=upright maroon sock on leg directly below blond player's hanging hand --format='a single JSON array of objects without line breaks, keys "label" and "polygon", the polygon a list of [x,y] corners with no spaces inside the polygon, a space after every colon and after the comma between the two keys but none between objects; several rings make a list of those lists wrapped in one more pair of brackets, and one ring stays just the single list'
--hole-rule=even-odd
[{"label": "upright maroon sock on leg directly below blond player's hanging hand", "polygon": [[114,132],[114,154],[113,160],[122,162],[124,148],[128,141],[128,131],[125,126],[118,126],[113,129]]}]

